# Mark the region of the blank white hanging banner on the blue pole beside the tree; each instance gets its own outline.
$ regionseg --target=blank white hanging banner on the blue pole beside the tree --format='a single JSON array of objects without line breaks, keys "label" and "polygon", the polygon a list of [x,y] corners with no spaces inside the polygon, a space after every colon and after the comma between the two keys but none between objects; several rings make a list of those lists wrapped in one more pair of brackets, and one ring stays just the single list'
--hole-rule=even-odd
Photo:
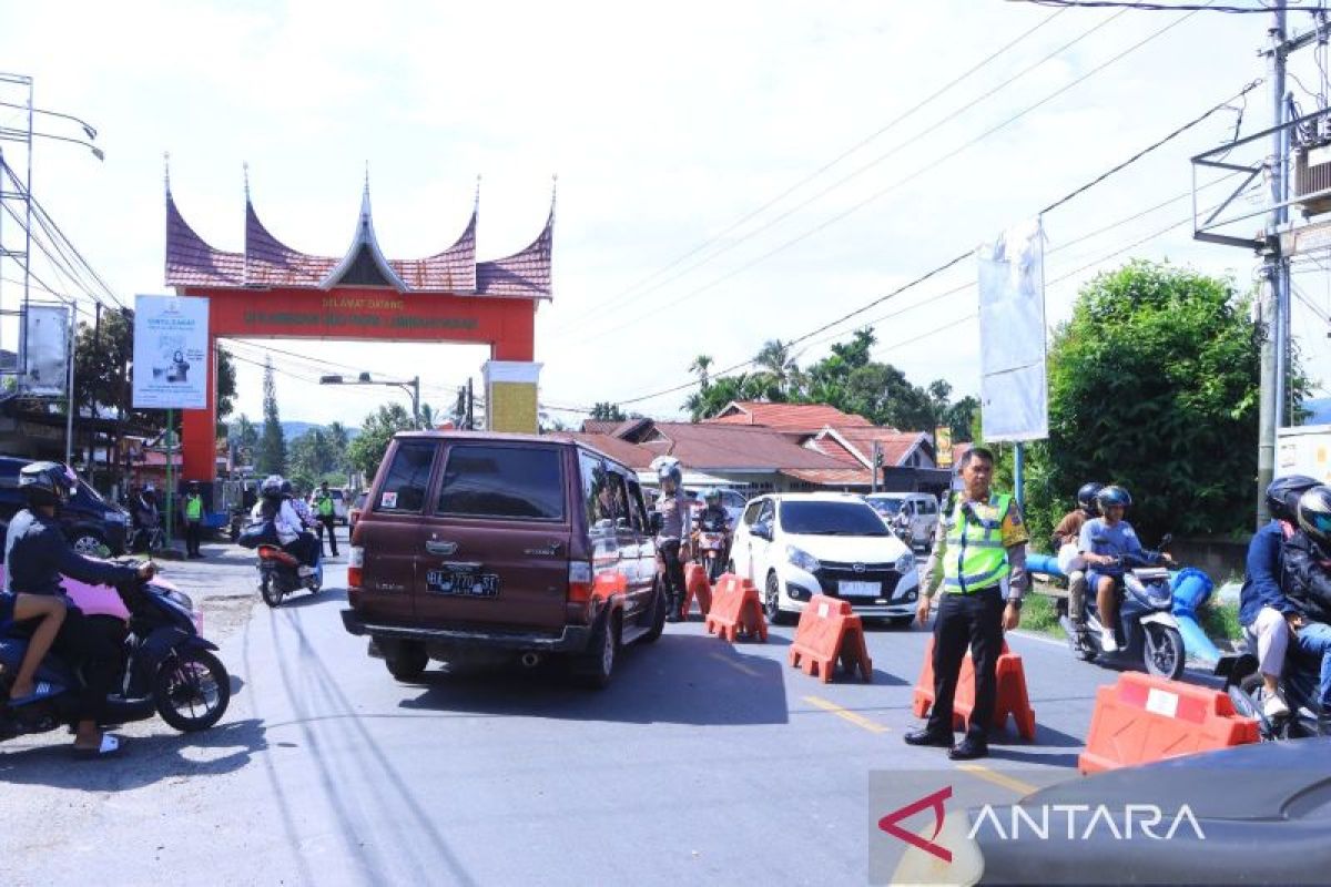
[{"label": "blank white hanging banner on the blue pole beside the tree", "polygon": [[1049,436],[1045,374],[1045,233],[1017,225],[980,259],[980,406],[985,440]]}]

